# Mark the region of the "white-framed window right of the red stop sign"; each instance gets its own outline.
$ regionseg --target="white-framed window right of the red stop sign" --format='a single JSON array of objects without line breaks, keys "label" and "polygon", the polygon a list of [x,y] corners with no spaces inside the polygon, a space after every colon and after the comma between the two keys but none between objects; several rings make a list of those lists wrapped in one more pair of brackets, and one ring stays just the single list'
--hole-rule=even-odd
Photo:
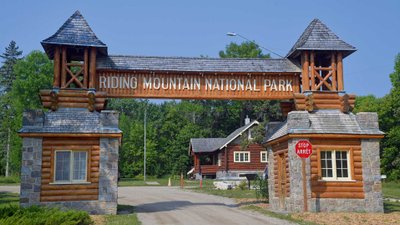
[{"label": "white-framed window right of the red stop sign", "polygon": [[320,162],[322,180],[351,180],[350,151],[320,151]]}]

